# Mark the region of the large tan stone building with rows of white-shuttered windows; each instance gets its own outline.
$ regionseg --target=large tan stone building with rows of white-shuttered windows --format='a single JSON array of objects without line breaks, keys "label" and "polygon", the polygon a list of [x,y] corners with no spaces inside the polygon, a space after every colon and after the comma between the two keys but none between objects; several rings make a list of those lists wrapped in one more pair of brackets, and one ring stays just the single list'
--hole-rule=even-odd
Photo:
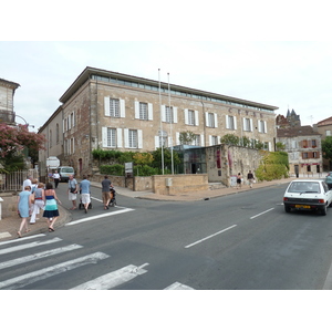
[{"label": "large tan stone building with rows of white-shuttered windows", "polygon": [[235,134],[274,151],[278,107],[271,105],[174,84],[168,91],[168,83],[94,68],[84,69],[60,102],[39,131],[50,145],[40,160],[58,156],[77,176],[92,174],[93,149],[152,152],[179,145],[186,131],[195,146]]}]

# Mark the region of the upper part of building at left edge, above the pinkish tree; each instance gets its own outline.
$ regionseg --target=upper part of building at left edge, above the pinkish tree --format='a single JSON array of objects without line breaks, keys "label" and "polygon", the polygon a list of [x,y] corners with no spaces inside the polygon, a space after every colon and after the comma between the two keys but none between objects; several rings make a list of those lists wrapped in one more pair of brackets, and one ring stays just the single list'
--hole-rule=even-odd
[{"label": "upper part of building at left edge, above the pinkish tree", "polygon": [[13,96],[20,84],[0,79],[0,123],[15,124]]}]

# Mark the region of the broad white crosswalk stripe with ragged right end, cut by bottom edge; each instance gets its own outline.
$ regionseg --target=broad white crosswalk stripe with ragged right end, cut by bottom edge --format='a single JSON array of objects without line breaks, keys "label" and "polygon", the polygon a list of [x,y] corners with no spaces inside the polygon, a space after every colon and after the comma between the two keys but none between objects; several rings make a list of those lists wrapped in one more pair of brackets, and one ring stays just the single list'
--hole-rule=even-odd
[{"label": "broad white crosswalk stripe with ragged right end, cut by bottom edge", "polygon": [[74,289],[74,290],[107,290],[107,289],[112,289],[116,286],[123,284],[123,283],[138,277],[139,274],[146,273],[147,271],[143,269],[146,266],[148,266],[148,263],[145,263],[141,267],[129,264],[129,266],[126,266],[114,272],[98,277],[94,280],[81,283],[72,289]]}]

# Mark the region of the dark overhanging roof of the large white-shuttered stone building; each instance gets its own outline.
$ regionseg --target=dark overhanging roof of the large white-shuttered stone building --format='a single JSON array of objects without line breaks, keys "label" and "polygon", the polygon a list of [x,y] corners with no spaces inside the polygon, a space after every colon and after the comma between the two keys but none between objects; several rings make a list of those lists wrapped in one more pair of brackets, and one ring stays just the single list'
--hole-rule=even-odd
[{"label": "dark overhanging roof of the large white-shuttered stone building", "polygon": [[[93,79],[93,76],[98,76],[100,79],[104,79],[102,81],[107,82],[107,79],[110,79],[108,82],[117,83],[117,84],[124,84],[124,85],[131,85],[141,87],[141,85],[147,85],[149,90],[158,92],[159,82],[149,80],[149,79],[143,79],[137,76],[132,76],[127,74],[100,70],[95,68],[86,66],[84,71],[76,77],[76,80],[73,82],[73,84],[65,91],[65,93],[60,97],[61,103],[65,103],[70,100],[70,97],[90,79]],[[169,84],[170,86],[170,93],[175,95],[184,95],[188,97],[197,97],[200,101],[220,101],[225,102],[226,104],[230,104],[234,106],[242,106],[242,107],[252,107],[258,108],[258,111],[268,111],[268,112],[274,112],[279,107],[271,106],[267,104],[250,102],[246,100],[240,100],[237,97],[226,96],[221,94],[216,94],[211,92],[195,90],[190,87],[185,87],[180,85]],[[168,92],[168,83],[160,82],[160,87],[164,90],[164,92]]]}]

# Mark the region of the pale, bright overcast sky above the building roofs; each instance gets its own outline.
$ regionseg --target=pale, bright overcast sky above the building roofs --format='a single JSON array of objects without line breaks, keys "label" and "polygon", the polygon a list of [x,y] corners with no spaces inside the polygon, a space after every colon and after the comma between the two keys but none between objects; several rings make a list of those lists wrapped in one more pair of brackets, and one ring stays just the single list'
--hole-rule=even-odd
[{"label": "pale, bright overcast sky above the building roofs", "polygon": [[0,54],[0,77],[20,84],[14,112],[34,131],[86,66],[156,81],[160,69],[170,84],[294,110],[302,125],[332,116],[332,42],[1,41]]}]

